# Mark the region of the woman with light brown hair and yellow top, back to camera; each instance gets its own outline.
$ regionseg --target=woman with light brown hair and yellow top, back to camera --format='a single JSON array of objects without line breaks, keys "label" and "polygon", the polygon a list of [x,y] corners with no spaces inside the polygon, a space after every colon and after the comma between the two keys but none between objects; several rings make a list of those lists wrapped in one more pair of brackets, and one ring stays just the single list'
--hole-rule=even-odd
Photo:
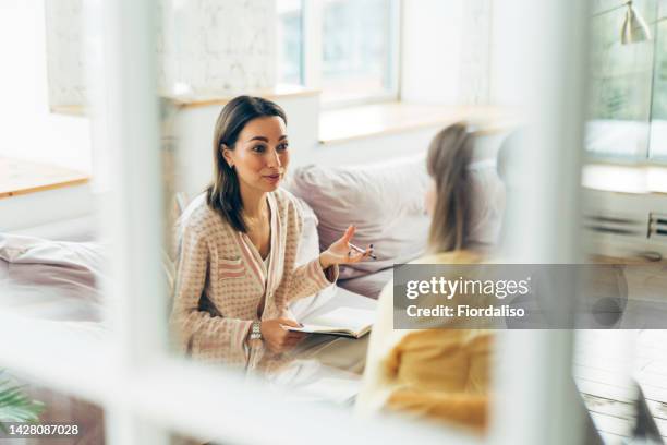
[{"label": "woman with light brown hair and yellow top, back to camera", "polygon": [[[484,260],[499,229],[502,187],[493,167],[473,161],[474,136],[463,123],[440,131],[430,143],[430,253],[415,264],[475,264]],[[371,334],[361,413],[398,411],[483,431],[489,406],[493,335],[486,329],[393,329],[393,282],[379,297]]]}]

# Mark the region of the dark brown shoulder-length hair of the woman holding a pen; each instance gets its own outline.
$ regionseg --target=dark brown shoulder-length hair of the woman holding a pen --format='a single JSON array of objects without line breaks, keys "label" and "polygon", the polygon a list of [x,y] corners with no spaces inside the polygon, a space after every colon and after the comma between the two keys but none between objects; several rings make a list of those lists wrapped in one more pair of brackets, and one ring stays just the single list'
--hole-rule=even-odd
[{"label": "dark brown shoulder-length hair of the woman holding a pen", "polygon": [[223,146],[234,149],[239,134],[253,119],[277,116],[287,124],[282,108],[262,97],[239,96],[220,111],[214,131],[214,179],[206,188],[206,203],[235,230],[246,232],[237,170],[222,156]]}]

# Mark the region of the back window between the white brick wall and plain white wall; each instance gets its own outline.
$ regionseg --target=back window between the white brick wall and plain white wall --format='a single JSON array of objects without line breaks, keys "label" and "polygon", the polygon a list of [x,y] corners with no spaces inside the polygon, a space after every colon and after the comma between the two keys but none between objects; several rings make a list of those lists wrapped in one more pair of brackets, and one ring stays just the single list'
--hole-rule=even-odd
[{"label": "back window between the white brick wall and plain white wall", "polygon": [[326,104],[398,95],[398,0],[278,1],[279,79]]}]

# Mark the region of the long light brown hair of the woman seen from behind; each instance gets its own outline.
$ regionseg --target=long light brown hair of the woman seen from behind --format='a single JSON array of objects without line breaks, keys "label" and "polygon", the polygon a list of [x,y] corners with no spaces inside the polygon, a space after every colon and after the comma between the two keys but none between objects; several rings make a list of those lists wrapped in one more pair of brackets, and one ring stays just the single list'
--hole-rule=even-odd
[{"label": "long light brown hair of the woman seen from behind", "polygon": [[459,122],[436,134],[428,147],[426,168],[436,183],[428,233],[434,252],[466,248],[473,200],[468,167],[473,145],[474,136],[468,125]]}]

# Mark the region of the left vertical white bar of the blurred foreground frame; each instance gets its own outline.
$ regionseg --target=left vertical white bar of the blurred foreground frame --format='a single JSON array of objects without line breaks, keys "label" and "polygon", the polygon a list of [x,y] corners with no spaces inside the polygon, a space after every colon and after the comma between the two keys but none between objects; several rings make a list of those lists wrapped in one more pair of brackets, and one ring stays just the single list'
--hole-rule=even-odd
[{"label": "left vertical white bar of the blurred foreground frame", "polygon": [[[92,2],[100,47],[94,119],[96,151],[108,154],[102,228],[111,246],[104,284],[112,328],[114,374],[131,382],[167,352],[167,296],[161,273],[163,199],[156,70],[156,1]],[[99,91],[101,88],[101,91]],[[135,416],[131,398],[111,395],[106,408],[111,444],[166,443],[163,433]]]}]

